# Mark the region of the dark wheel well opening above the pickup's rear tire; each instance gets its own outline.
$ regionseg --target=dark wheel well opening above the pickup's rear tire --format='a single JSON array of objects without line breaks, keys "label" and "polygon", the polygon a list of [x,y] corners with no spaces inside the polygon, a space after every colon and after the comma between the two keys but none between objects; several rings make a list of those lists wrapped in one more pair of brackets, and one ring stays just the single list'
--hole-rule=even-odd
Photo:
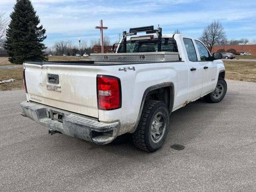
[{"label": "dark wheel well opening above the pickup's rear tire", "polygon": [[145,100],[158,100],[166,104],[169,111],[173,107],[174,90],[172,86],[157,88],[147,93]]}]

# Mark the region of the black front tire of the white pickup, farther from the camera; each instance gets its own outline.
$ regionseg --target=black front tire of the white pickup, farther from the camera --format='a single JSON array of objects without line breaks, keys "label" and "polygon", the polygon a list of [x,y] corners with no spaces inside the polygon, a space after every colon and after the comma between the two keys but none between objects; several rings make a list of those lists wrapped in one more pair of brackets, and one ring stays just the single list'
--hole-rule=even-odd
[{"label": "black front tire of the white pickup, farther from the camera", "polygon": [[[216,96],[216,90],[214,90],[213,92],[209,93],[208,95],[204,96],[204,100],[208,103],[217,103],[217,102],[220,102],[224,96],[226,95],[226,92],[227,92],[227,83],[226,81],[224,80],[224,78],[218,78],[218,82],[217,82],[217,85],[216,85],[216,88],[217,87],[222,87],[222,93],[219,94],[219,97]],[[217,91],[217,94],[218,94],[218,91]]]}]

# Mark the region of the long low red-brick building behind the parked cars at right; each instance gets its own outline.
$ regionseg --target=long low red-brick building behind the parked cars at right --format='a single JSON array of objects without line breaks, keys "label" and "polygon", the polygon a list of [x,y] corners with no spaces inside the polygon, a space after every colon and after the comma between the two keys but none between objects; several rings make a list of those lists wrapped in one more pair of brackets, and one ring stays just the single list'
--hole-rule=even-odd
[{"label": "long low red-brick building behind the parked cars at right", "polygon": [[237,52],[246,51],[252,55],[256,55],[256,45],[224,45],[224,46],[214,46],[212,48],[212,53],[217,52],[219,49],[235,49]]}]

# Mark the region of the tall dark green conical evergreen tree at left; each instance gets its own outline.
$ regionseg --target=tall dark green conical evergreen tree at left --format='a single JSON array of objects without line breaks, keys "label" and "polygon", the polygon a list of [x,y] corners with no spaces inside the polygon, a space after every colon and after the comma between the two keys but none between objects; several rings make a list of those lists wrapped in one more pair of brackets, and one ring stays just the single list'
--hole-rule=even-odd
[{"label": "tall dark green conical evergreen tree at left", "polygon": [[14,10],[10,14],[10,24],[6,30],[5,48],[15,64],[24,61],[45,61],[47,58],[42,43],[46,30],[40,23],[39,17],[30,0],[16,0]]}]

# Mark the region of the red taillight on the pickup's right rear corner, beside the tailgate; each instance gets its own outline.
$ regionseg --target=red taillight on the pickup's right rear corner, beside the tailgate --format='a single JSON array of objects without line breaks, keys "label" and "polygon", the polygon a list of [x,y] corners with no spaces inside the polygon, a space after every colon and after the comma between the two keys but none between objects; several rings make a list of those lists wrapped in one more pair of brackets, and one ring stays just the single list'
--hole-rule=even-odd
[{"label": "red taillight on the pickup's right rear corner, beside the tailgate", "polygon": [[121,108],[120,79],[113,76],[97,75],[98,108],[114,110]]}]

